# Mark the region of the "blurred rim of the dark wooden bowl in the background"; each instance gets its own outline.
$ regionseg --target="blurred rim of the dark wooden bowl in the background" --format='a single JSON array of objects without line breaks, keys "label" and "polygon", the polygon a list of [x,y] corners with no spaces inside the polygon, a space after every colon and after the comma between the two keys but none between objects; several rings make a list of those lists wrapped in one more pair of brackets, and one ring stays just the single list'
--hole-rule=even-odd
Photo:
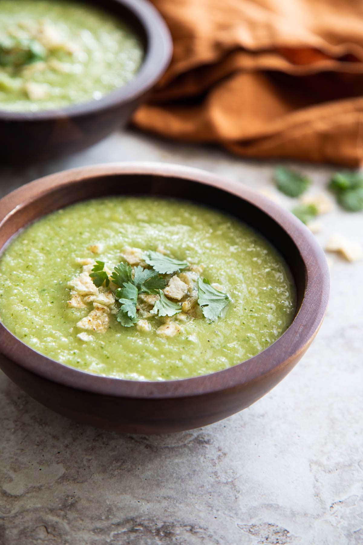
[{"label": "blurred rim of the dark wooden bowl in the background", "polygon": [[137,2],[135,0],[113,1],[124,5],[135,15],[144,28],[148,40],[142,65],[132,80],[123,87],[107,93],[100,100],[89,100],[80,104],[51,108],[39,112],[8,112],[0,109],[0,120],[32,122],[68,117],[76,118],[130,102],[154,86],[171,60],[173,45],[170,31],[164,19],[148,0],[137,0]]}]

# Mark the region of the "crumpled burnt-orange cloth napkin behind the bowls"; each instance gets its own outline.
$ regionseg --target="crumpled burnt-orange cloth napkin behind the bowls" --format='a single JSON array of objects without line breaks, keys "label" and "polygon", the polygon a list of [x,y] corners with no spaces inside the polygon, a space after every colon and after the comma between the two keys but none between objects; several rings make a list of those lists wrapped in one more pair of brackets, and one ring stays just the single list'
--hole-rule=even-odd
[{"label": "crumpled burnt-orange cloth napkin behind the bowls", "polygon": [[363,160],[363,0],[154,0],[170,67],[134,116],[245,157]]}]

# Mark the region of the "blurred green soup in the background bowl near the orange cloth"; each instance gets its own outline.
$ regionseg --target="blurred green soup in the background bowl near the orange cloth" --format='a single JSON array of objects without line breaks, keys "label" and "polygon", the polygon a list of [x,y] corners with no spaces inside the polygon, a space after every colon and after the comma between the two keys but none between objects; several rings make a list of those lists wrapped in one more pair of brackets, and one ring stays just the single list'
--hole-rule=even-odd
[{"label": "blurred green soup in the background bowl near the orange cloth", "polygon": [[140,39],[117,16],[68,0],[0,0],[0,108],[100,99],[140,68]]}]

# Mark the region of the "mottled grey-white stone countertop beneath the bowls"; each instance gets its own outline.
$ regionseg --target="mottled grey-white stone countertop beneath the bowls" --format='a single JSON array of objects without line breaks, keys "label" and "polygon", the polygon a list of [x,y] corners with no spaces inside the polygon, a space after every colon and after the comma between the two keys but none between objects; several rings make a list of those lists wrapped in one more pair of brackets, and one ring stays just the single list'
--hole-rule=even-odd
[{"label": "mottled grey-white stone countertop beneath the bowls", "polygon": [[[127,131],[70,158],[1,168],[0,195],[65,168],[141,159],[273,188],[271,162]],[[303,168],[316,188],[332,171]],[[322,222],[322,244],[333,232],[363,243],[361,213],[336,208]],[[334,256],[328,313],[297,367],[249,409],[194,431],[84,427],[0,372],[1,545],[363,543],[362,278],[363,262]]]}]

